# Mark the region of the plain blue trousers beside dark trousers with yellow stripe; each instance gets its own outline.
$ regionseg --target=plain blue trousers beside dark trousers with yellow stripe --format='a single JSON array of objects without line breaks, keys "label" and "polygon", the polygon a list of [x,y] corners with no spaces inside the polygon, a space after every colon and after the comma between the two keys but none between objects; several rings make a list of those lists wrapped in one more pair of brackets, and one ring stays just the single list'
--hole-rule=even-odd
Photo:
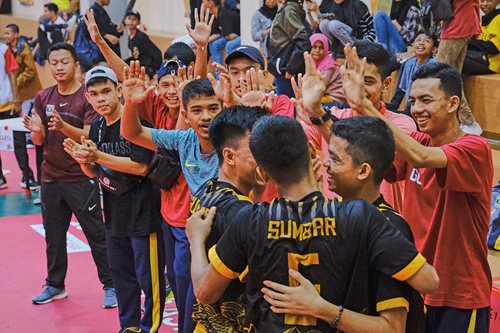
[{"label": "plain blue trousers beside dark trousers with yellow stripe", "polygon": [[191,333],[195,322],[191,319],[196,301],[191,283],[191,254],[186,229],[173,227],[164,221],[165,261],[167,278],[175,297],[178,315],[178,332]]}]

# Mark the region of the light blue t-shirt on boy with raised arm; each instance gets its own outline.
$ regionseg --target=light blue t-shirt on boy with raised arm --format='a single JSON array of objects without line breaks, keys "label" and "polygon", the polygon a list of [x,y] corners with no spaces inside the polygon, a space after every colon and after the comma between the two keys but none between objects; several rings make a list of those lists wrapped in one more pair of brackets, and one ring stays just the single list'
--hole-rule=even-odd
[{"label": "light blue t-shirt on boy with raised arm", "polygon": [[219,158],[215,150],[202,154],[200,140],[192,128],[188,130],[151,129],[153,143],[158,148],[177,150],[182,172],[191,195],[209,179],[219,173]]}]

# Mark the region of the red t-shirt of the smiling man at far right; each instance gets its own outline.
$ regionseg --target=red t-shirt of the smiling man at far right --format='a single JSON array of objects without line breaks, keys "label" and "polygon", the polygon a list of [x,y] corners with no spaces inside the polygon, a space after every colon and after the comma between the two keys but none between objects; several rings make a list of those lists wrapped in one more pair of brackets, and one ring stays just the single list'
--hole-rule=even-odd
[{"label": "red t-shirt of the smiling man at far right", "polygon": [[[432,146],[427,134],[412,137]],[[402,215],[417,249],[436,269],[439,289],[430,306],[477,309],[490,305],[491,272],[486,235],[490,217],[493,162],[488,141],[466,134],[440,147],[444,169],[413,168],[397,156],[387,179],[405,180]]]}]

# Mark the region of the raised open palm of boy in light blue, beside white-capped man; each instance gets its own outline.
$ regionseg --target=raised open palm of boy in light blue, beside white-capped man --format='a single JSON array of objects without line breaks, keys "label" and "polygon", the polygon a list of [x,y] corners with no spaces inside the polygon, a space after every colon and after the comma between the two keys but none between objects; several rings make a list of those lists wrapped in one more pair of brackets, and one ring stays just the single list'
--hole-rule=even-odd
[{"label": "raised open palm of boy in light blue, beside white-capped man", "polygon": [[154,89],[146,83],[146,69],[141,67],[139,61],[130,62],[130,68],[123,67],[122,92],[125,102],[140,104],[146,100]]}]

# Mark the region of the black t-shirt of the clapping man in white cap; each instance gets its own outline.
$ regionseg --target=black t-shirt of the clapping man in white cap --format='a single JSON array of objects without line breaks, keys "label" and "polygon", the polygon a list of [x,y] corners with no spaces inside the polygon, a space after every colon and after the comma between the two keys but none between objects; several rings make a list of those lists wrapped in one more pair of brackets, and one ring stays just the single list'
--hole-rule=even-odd
[{"label": "black t-shirt of the clapping man in white cap", "polygon": [[[154,153],[125,140],[120,135],[120,123],[121,120],[118,120],[106,126],[102,117],[95,120],[90,126],[90,140],[104,153],[149,164]],[[146,122],[143,122],[143,125],[148,126]],[[115,237],[139,237],[159,231],[162,223],[159,189],[146,177],[111,172],[120,179],[130,181],[132,186],[125,193],[116,195],[99,179],[103,189],[107,231]]]}]

